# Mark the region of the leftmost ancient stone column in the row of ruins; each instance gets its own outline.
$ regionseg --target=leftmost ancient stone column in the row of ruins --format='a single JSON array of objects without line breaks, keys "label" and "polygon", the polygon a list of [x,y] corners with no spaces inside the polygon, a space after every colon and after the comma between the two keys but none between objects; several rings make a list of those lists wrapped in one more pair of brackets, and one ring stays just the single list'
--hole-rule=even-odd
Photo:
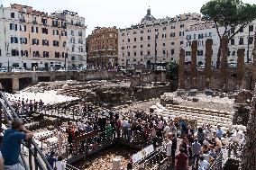
[{"label": "leftmost ancient stone column in the row of ruins", "polygon": [[185,49],[180,49],[179,51],[178,89],[185,89]]}]

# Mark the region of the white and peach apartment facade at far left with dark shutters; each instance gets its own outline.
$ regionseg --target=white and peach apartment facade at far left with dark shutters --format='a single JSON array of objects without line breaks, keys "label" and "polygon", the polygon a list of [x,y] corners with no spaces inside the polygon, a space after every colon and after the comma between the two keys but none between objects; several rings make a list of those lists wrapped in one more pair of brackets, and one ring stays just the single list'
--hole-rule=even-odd
[{"label": "white and peach apartment facade at far left with dark shutters", "polygon": [[67,48],[65,20],[22,4],[0,9],[0,67],[49,68],[73,64]]}]

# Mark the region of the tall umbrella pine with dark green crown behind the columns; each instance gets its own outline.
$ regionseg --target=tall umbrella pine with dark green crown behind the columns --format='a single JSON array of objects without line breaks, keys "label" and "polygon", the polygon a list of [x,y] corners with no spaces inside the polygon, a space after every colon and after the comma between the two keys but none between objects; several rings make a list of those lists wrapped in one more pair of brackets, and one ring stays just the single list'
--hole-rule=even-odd
[{"label": "tall umbrella pine with dark green crown behind the columns", "polygon": [[[256,4],[244,4],[241,0],[211,0],[201,7],[201,13],[206,21],[215,22],[215,28],[220,39],[220,47],[217,56],[217,68],[219,68],[222,40],[224,36],[228,41],[256,19]],[[220,31],[224,27],[224,32]]]}]

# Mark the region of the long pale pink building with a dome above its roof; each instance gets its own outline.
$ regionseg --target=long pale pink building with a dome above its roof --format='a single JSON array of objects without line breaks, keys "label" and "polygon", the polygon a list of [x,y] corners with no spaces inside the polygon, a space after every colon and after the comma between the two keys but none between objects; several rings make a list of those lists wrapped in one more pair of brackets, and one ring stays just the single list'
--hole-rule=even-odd
[{"label": "long pale pink building with a dome above its roof", "polygon": [[185,31],[201,20],[198,13],[156,19],[151,9],[139,24],[118,31],[118,59],[122,67],[164,65],[178,61],[183,48]]}]

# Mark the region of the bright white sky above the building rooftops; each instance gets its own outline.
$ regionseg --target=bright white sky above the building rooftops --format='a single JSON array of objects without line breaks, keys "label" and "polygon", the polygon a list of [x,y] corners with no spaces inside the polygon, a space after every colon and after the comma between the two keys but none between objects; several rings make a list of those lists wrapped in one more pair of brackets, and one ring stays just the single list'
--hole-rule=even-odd
[{"label": "bright white sky above the building rooftops", "polygon": [[[200,13],[209,0],[0,0],[0,4],[30,5],[37,11],[53,13],[69,10],[86,20],[87,35],[100,27],[126,28],[141,22],[149,6],[155,18],[174,17],[182,13]],[[242,0],[255,4],[256,0]]]}]

